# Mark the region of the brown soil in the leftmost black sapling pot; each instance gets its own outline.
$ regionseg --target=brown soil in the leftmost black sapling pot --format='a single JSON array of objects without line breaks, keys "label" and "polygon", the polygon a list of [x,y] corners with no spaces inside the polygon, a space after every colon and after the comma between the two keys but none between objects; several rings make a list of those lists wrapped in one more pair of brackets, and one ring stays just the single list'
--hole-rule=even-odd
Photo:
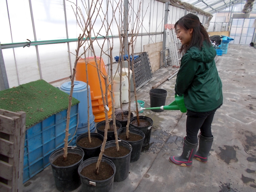
[{"label": "brown soil in the leftmost black sapling pot", "polygon": [[65,167],[74,165],[76,162],[80,161],[82,156],[74,153],[68,153],[67,159],[64,161],[63,156],[61,155],[58,157],[54,162],[53,165],[59,166],[59,167]]}]

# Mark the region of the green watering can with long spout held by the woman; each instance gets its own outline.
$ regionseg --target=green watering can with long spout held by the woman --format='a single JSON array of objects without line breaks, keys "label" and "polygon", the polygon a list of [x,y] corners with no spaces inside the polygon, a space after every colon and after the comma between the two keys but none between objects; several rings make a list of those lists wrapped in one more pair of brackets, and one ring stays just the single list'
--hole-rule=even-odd
[{"label": "green watering can with long spout held by the woman", "polygon": [[161,107],[153,107],[153,108],[142,108],[142,109],[163,109],[163,110],[180,110],[182,113],[187,112],[187,108],[184,103],[184,95],[178,96],[175,95],[175,100],[170,103],[170,105],[164,105]]}]

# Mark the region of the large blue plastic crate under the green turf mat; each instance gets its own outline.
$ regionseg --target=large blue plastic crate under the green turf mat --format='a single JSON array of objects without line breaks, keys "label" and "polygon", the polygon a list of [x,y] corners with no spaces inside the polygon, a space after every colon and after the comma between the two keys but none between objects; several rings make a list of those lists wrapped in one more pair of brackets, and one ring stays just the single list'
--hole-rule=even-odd
[{"label": "large blue plastic crate under the green turf mat", "polygon": [[[71,107],[68,142],[76,145],[76,125],[78,105]],[[50,165],[49,157],[53,151],[64,147],[67,109],[54,114],[26,130],[24,145],[23,183]]]}]

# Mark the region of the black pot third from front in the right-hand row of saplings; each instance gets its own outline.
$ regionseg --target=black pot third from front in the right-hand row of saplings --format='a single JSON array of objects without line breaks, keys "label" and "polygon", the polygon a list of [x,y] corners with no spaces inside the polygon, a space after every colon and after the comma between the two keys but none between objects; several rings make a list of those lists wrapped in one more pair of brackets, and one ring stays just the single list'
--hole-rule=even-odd
[{"label": "black pot third from front in the right-hand row of saplings", "polygon": [[[123,132],[126,132],[126,127],[118,129],[117,136]],[[132,153],[131,153],[131,160],[130,160],[130,163],[132,163],[132,162],[138,161],[140,158],[140,152],[142,149],[145,134],[142,131],[140,131],[139,129],[135,129],[135,128],[131,128],[131,127],[129,127],[129,132],[142,136],[142,139],[140,139],[138,141],[127,141],[127,140],[122,140],[118,137],[118,139],[125,141],[132,146]]]}]

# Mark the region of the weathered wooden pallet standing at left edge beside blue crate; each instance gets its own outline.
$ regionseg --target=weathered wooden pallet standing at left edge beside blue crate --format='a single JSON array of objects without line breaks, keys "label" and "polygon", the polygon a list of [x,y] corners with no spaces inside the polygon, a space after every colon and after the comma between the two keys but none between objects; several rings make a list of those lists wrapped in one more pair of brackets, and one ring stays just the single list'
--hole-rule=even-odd
[{"label": "weathered wooden pallet standing at left edge beside blue crate", "polygon": [[26,113],[0,109],[0,191],[22,192]]}]

